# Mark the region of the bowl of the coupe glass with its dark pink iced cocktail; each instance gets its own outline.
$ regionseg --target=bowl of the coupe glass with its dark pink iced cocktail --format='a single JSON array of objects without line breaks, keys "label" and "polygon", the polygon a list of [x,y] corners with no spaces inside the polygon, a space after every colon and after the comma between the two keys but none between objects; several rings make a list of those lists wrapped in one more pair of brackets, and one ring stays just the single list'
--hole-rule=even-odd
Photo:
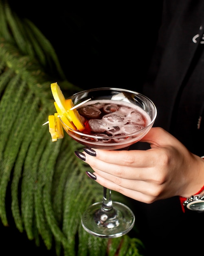
[{"label": "bowl of the coupe glass with its dark pink iced cocktail", "polygon": [[[156,118],[156,108],[147,97],[137,92],[119,89],[107,97],[108,88],[87,90],[74,94],[75,105],[85,129],[73,130],[63,125],[66,132],[79,143],[90,148],[116,150],[127,148],[147,134]],[[118,90],[118,89],[117,89]]]}]

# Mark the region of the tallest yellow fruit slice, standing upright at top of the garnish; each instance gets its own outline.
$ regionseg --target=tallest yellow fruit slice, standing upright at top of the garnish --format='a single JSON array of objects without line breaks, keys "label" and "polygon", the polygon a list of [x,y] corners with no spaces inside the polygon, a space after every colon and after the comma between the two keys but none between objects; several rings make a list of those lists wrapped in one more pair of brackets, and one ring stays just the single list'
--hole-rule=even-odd
[{"label": "tallest yellow fruit slice, standing upright at top of the garnish", "polygon": [[72,119],[70,118],[69,112],[66,109],[65,97],[61,92],[59,85],[57,83],[51,83],[50,88],[53,94],[53,98],[55,99],[57,106],[60,109],[61,115],[64,115],[69,121],[72,121]]}]

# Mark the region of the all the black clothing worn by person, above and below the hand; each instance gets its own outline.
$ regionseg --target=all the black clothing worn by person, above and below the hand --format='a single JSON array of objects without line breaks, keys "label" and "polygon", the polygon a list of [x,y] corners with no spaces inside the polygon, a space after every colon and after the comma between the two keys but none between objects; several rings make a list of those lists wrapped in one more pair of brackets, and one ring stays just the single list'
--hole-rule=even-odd
[{"label": "all the black clothing worn by person, above and below the hand", "polygon": [[[161,126],[192,153],[204,155],[204,1],[163,1],[162,22],[143,94],[154,101]],[[193,170],[192,170],[193,171]],[[204,183],[204,182],[203,182]],[[200,255],[204,213],[182,212],[178,197],[135,202],[147,255]],[[201,254],[202,255],[202,254]]]}]

